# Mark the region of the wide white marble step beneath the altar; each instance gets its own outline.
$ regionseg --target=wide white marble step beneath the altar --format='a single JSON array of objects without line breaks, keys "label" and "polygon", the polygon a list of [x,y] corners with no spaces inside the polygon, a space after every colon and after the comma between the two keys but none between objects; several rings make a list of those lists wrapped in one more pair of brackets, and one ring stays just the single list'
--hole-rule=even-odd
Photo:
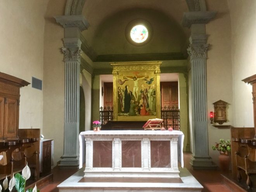
[{"label": "wide white marble step beneath the altar", "polygon": [[83,170],[59,184],[59,192],[200,192],[203,189],[186,168],[180,168],[179,178],[85,178]]}]

